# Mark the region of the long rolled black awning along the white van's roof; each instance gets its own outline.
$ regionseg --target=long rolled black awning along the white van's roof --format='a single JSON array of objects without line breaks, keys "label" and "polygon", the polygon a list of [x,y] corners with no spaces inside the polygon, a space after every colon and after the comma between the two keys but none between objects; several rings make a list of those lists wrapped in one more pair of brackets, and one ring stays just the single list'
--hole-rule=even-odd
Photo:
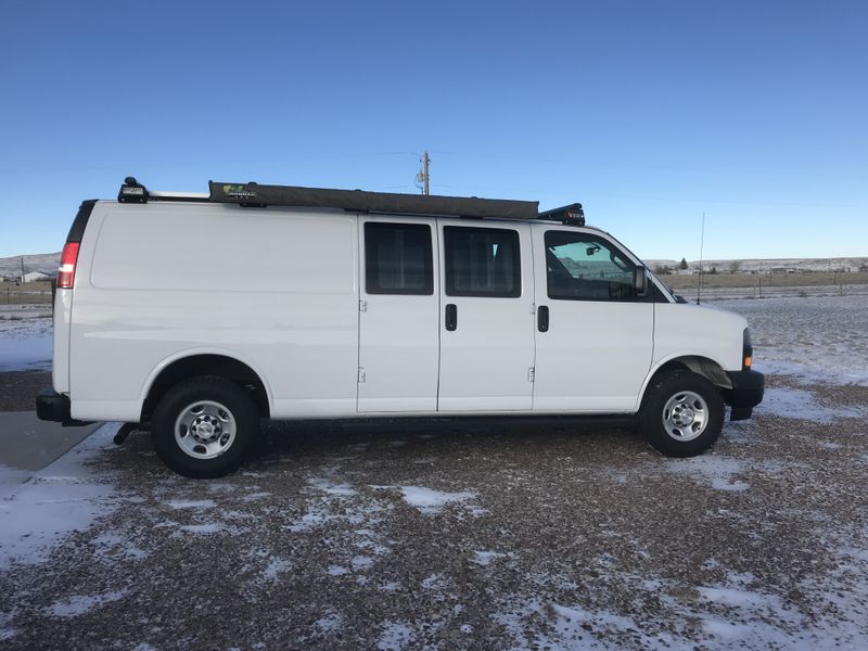
[{"label": "long rolled black awning along the white van's roof", "polygon": [[536,201],[397,194],[294,186],[260,186],[258,183],[208,181],[208,189],[210,201],[217,203],[342,208],[360,213],[536,219],[539,208],[539,202]]}]

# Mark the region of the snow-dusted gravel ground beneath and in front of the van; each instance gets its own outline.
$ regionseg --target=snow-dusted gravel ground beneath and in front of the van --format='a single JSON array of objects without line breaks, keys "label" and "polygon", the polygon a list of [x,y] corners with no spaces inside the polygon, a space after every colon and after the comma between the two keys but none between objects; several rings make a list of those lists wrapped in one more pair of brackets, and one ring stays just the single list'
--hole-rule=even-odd
[{"label": "snow-dusted gravel ground beneath and in front of the van", "polygon": [[710,304],[769,375],[713,454],[616,430],[270,425],[193,482],[105,425],[0,473],[9,649],[868,648],[868,297]]}]

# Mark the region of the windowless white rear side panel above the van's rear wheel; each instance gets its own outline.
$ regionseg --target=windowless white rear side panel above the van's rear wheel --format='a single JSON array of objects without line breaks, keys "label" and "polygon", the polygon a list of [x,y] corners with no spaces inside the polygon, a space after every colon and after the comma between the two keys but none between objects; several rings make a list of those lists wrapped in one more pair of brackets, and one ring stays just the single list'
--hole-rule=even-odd
[{"label": "windowless white rear side panel above the van's rear wheel", "polygon": [[100,203],[79,254],[72,414],[137,421],[188,353],[251,366],[272,418],[352,416],[357,218],[334,210]]}]

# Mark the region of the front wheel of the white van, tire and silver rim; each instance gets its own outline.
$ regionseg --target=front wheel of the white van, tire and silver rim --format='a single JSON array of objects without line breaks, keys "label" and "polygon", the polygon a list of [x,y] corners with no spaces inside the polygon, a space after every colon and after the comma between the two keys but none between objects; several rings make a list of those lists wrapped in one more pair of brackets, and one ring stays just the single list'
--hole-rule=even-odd
[{"label": "front wheel of the white van, tire and silver rim", "polygon": [[693,457],[720,436],[724,401],[705,378],[679,369],[651,381],[639,416],[654,449],[666,457]]}]

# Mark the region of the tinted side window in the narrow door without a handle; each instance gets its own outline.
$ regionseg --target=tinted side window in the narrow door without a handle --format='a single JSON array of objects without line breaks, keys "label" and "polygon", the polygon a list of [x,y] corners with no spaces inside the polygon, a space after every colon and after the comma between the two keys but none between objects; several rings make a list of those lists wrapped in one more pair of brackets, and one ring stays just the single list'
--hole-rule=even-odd
[{"label": "tinted side window in the narrow door without a handle", "polygon": [[365,278],[369,294],[433,294],[431,227],[367,222]]}]

